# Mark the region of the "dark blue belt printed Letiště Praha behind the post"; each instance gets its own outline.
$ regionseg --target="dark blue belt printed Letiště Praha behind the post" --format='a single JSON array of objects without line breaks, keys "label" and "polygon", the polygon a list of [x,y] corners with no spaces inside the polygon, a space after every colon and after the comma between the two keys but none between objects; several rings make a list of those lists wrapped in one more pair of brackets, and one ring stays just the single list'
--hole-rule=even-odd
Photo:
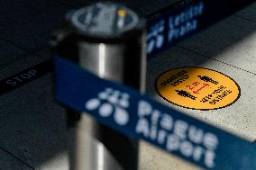
[{"label": "dark blue belt printed Leti\u0161t\u011b Praha behind the post", "polygon": [[252,2],[254,0],[183,0],[149,15],[146,17],[149,57]]}]

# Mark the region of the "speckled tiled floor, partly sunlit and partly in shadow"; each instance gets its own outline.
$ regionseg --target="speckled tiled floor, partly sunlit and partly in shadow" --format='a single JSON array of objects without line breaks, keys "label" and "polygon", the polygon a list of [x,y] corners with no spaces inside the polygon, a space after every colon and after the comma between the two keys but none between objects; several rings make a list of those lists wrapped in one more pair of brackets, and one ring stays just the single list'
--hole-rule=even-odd
[{"label": "speckled tiled floor, partly sunlit and partly in shadow", "polygon": [[[161,2],[154,8],[148,5],[138,11],[147,14],[168,4]],[[63,13],[80,3],[84,4],[79,0],[0,2],[1,12],[5,13],[5,17],[0,16],[0,79],[49,58],[50,31],[59,27]],[[198,112],[166,104],[245,139],[256,139],[256,106],[251,104],[256,103],[255,16],[254,3],[152,58],[148,63],[147,93],[160,100],[153,83],[157,76],[173,67],[200,66],[223,72],[233,77],[242,89],[241,98],[232,106]],[[50,77],[50,74],[43,76],[0,96],[0,170],[68,169],[65,114],[53,102]],[[141,149],[141,170],[196,168],[147,144],[142,143]]]}]

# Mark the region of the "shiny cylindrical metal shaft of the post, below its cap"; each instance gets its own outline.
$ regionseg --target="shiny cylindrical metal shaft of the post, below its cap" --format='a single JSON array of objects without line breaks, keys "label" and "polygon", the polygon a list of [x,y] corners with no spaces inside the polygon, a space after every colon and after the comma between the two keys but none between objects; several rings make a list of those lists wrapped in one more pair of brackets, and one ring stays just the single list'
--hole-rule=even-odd
[{"label": "shiny cylindrical metal shaft of the post, below its cap", "polygon": [[[101,78],[143,91],[146,73],[143,37],[144,34],[134,44],[81,41],[78,43],[78,65]],[[132,55],[131,49],[134,50]],[[68,115],[78,117],[68,132],[71,170],[138,168],[137,141],[99,124],[85,113],[69,110]]]}]

